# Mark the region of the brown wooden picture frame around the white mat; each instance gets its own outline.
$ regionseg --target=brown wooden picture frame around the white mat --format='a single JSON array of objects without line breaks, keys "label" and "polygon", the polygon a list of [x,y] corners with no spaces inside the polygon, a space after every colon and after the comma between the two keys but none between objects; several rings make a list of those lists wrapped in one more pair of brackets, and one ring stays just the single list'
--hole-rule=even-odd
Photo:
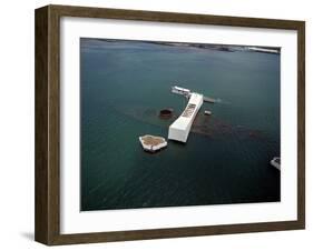
[{"label": "brown wooden picture frame around the white mat", "polygon": [[[106,18],[297,31],[297,220],[136,231],[60,233],[60,18]],[[305,228],[305,22],[68,6],[36,10],[36,222],[38,242],[74,244]]]}]

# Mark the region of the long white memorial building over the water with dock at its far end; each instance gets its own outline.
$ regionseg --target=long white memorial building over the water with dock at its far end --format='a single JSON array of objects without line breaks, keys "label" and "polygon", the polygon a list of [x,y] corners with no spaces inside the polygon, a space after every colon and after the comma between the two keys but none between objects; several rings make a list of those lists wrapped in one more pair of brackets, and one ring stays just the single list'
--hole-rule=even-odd
[{"label": "long white memorial building over the water with dock at its far end", "polygon": [[[174,88],[177,89],[177,87]],[[179,91],[178,94],[183,94],[183,96],[189,92],[189,101],[184,112],[179,116],[179,118],[169,126],[168,139],[185,143],[188,139],[188,134],[192,124],[194,122],[194,119],[196,118],[196,114],[200,109],[204,100],[203,100],[203,94],[190,92],[187,89],[179,88],[178,91]],[[172,92],[177,93],[173,89]]]}]

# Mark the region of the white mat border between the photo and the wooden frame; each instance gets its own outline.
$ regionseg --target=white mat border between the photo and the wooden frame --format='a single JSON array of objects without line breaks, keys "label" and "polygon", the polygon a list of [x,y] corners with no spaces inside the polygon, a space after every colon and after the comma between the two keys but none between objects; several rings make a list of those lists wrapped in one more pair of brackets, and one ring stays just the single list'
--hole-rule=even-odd
[{"label": "white mat border between the photo and the wooden frame", "polygon": [[[79,208],[80,38],[281,47],[281,202],[81,212]],[[113,19],[61,18],[60,233],[296,220],[296,31]]]}]

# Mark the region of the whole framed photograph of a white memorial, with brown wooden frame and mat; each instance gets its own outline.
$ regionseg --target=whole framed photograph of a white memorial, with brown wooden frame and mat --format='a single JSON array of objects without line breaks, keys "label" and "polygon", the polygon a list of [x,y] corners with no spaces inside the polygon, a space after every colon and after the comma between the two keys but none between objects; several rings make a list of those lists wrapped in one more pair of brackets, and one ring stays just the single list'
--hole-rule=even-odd
[{"label": "whole framed photograph of a white memorial, with brown wooden frame and mat", "polygon": [[36,240],[305,227],[305,23],[36,10]]}]

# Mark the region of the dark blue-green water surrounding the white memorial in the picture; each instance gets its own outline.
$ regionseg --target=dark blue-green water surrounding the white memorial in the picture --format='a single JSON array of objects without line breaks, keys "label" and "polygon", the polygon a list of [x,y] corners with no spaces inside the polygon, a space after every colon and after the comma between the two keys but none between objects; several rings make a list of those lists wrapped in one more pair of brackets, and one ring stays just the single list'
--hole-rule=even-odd
[{"label": "dark blue-green water surrounding the white memorial in the picture", "polygon": [[[80,208],[136,209],[281,199],[280,54],[144,41],[80,39]],[[186,144],[155,154],[138,137],[167,138],[186,106],[204,103]],[[158,112],[174,109],[174,118]],[[204,110],[212,111],[211,117]]]}]

